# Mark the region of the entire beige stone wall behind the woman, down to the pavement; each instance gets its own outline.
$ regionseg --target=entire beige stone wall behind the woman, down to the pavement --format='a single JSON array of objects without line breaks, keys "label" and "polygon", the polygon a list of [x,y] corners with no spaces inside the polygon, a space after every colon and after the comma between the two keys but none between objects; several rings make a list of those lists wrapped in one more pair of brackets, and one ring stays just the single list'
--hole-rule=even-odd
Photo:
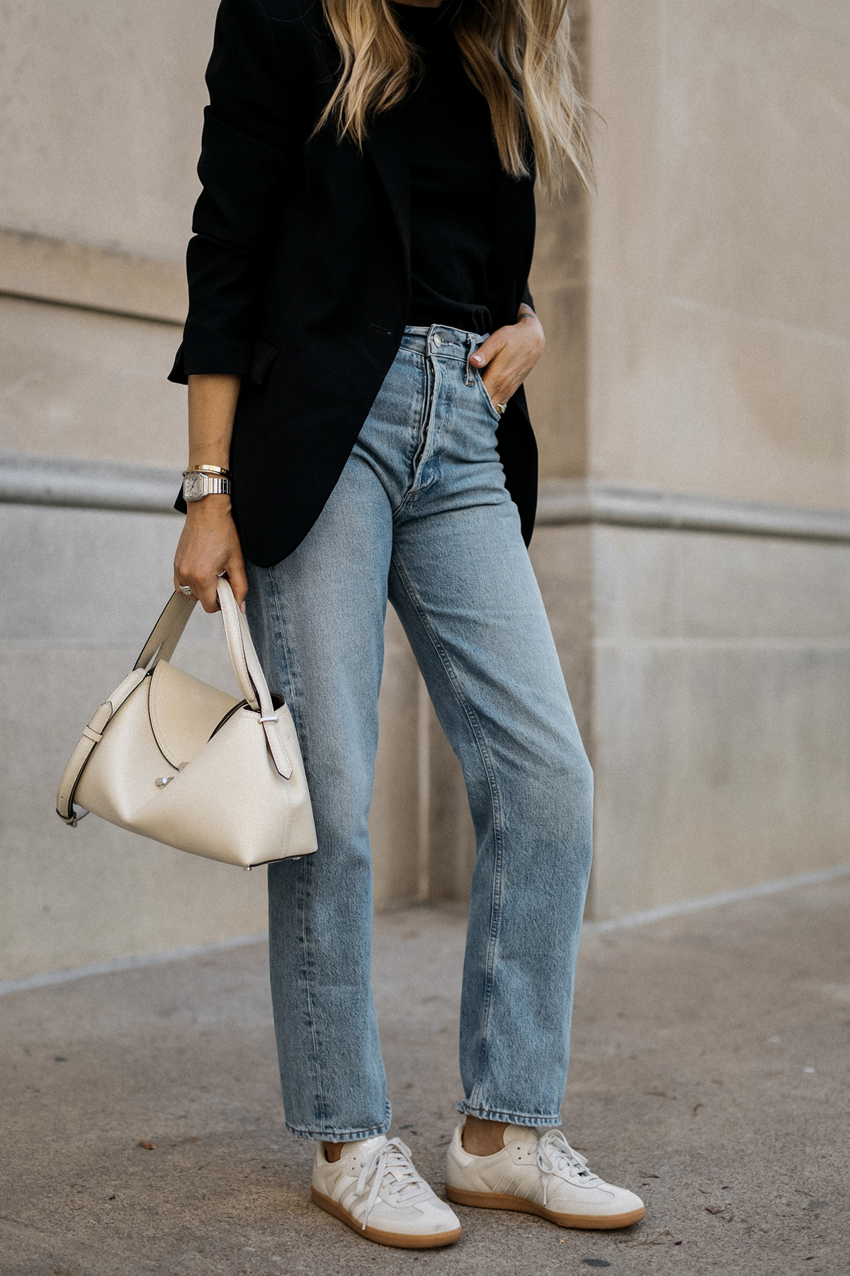
[{"label": "entire beige stone wall behind the woman, down to the pavement", "polygon": [[[0,980],[264,926],[261,873],[52,814],[169,590],[185,390],[164,374],[214,10],[6,5]],[[596,772],[607,917],[850,859],[850,18],[576,19],[599,189],[539,203],[531,556]],[[376,902],[463,898],[463,781],[391,614],[386,637]],[[229,678],[214,620],[180,652]]]}]

